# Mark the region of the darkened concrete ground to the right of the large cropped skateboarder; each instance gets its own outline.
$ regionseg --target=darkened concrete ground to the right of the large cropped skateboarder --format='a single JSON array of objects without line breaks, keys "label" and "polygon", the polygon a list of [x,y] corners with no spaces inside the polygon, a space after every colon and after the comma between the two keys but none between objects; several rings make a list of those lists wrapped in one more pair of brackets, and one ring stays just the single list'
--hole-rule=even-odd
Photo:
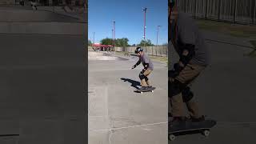
[{"label": "darkened concrete ground to the right of the large cropped skateboarder", "polygon": [[[218,124],[209,138],[193,134],[169,143],[255,143],[256,59],[244,55],[252,50],[248,48],[250,43],[220,34],[205,35],[211,63],[192,89],[202,114],[214,118]],[[171,58],[174,61],[177,55]]]}]

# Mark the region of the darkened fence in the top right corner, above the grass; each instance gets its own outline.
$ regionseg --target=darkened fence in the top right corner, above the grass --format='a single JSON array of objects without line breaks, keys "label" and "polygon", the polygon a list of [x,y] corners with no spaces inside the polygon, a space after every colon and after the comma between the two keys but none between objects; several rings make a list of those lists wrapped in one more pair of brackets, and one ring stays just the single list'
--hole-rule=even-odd
[{"label": "darkened fence in the top right corner, above the grass", "polygon": [[178,6],[194,18],[256,24],[256,0],[178,0]]}]

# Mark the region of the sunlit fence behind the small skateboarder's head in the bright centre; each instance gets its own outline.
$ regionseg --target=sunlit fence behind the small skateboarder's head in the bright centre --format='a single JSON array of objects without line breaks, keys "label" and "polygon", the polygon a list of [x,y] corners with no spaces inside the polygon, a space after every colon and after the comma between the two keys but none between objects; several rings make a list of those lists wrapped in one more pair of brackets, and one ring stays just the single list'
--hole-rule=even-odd
[{"label": "sunlit fence behind the small skateboarder's head in the bright centre", "polygon": [[[153,56],[160,56],[160,57],[167,57],[168,49],[167,46],[146,46],[142,47],[146,54],[153,55]],[[136,46],[129,46],[129,47],[116,47],[116,51],[122,51],[126,53],[134,53]]]}]

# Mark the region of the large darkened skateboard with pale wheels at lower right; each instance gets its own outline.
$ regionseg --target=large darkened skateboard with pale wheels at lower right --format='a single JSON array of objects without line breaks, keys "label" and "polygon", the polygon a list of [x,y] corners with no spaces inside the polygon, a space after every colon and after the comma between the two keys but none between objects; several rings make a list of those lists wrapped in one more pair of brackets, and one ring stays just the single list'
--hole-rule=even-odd
[{"label": "large darkened skateboard with pale wheels at lower right", "polygon": [[201,133],[204,136],[209,136],[210,128],[217,124],[214,120],[205,120],[202,122],[191,122],[190,120],[179,124],[179,126],[171,126],[168,124],[168,138],[174,141],[175,136],[184,134],[197,134]]}]

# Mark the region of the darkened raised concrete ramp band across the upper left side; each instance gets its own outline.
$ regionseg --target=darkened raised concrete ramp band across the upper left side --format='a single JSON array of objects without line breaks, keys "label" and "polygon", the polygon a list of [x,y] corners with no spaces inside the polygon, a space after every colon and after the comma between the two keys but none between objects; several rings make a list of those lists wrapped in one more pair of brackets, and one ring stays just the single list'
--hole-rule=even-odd
[{"label": "darkened raised concrete ramp band across the upper left side", "polygon": [[87,34],[85,23],[72,14],[0,7],[0,33],[5,34]]}]

